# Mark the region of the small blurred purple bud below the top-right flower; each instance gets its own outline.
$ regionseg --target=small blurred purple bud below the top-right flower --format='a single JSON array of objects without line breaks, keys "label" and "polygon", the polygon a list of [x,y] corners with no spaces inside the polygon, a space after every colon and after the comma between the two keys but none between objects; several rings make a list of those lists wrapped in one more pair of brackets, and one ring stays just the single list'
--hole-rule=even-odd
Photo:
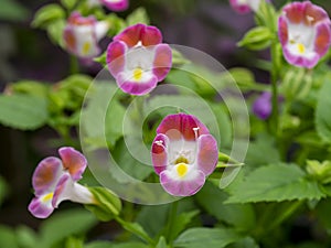
[{"label": "small blurred purple bud below the top-right flower", "polygon": [[263,93],[253,104],[253,112],[259,119],[266,120],[271,115],[271,94],[269,91]]}]

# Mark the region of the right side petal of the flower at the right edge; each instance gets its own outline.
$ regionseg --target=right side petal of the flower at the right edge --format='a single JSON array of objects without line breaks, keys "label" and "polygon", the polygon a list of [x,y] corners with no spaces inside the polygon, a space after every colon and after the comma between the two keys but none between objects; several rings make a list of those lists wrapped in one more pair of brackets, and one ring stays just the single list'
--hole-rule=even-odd
[{"label": "right side petal of the flower at the right edge", "polygon": [[317,34],[314,40],[314,51],[322,57],[331,45],[331,28],[330,22],[322,22],[317,25]]}]

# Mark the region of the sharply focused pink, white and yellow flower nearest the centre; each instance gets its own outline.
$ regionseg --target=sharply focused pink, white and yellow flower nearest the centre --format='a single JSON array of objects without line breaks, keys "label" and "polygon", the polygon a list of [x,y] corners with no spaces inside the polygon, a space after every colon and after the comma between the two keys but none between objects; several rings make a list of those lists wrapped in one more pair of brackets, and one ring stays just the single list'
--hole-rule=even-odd
[{"label": "sharply focused pink, white and yellow flower nearest the centre", "polygon": [[217,142],[194,116],[167,116],[157,129],[151,158],[163,188],[174,196],[195,194],[218,161]]}]

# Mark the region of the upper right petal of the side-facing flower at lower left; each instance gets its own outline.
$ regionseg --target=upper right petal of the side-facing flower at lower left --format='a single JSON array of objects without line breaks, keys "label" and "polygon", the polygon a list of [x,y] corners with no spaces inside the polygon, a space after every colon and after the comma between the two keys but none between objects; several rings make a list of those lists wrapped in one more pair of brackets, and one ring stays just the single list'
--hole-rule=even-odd
[{"label": "upper right petal of the side-facing flower at lower left", "polygon": [[58,154],[63,161],[64,169],[68,170],[72,179],[78,181],[87,166],[85,157],[73,148],[61,148]]}]

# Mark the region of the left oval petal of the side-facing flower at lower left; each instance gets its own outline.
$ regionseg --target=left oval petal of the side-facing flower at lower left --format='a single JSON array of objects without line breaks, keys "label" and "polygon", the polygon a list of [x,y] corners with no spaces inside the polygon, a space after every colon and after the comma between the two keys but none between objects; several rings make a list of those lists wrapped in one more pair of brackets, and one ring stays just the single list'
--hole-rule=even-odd
[{"label": "left oval petal of the side-facing flower at lower left", "polygon": [[40,196],[45,192],[52,192],[62,174],[63,164],[60,159],[54,157],[43,159],[32,176],[35,195]]}]

